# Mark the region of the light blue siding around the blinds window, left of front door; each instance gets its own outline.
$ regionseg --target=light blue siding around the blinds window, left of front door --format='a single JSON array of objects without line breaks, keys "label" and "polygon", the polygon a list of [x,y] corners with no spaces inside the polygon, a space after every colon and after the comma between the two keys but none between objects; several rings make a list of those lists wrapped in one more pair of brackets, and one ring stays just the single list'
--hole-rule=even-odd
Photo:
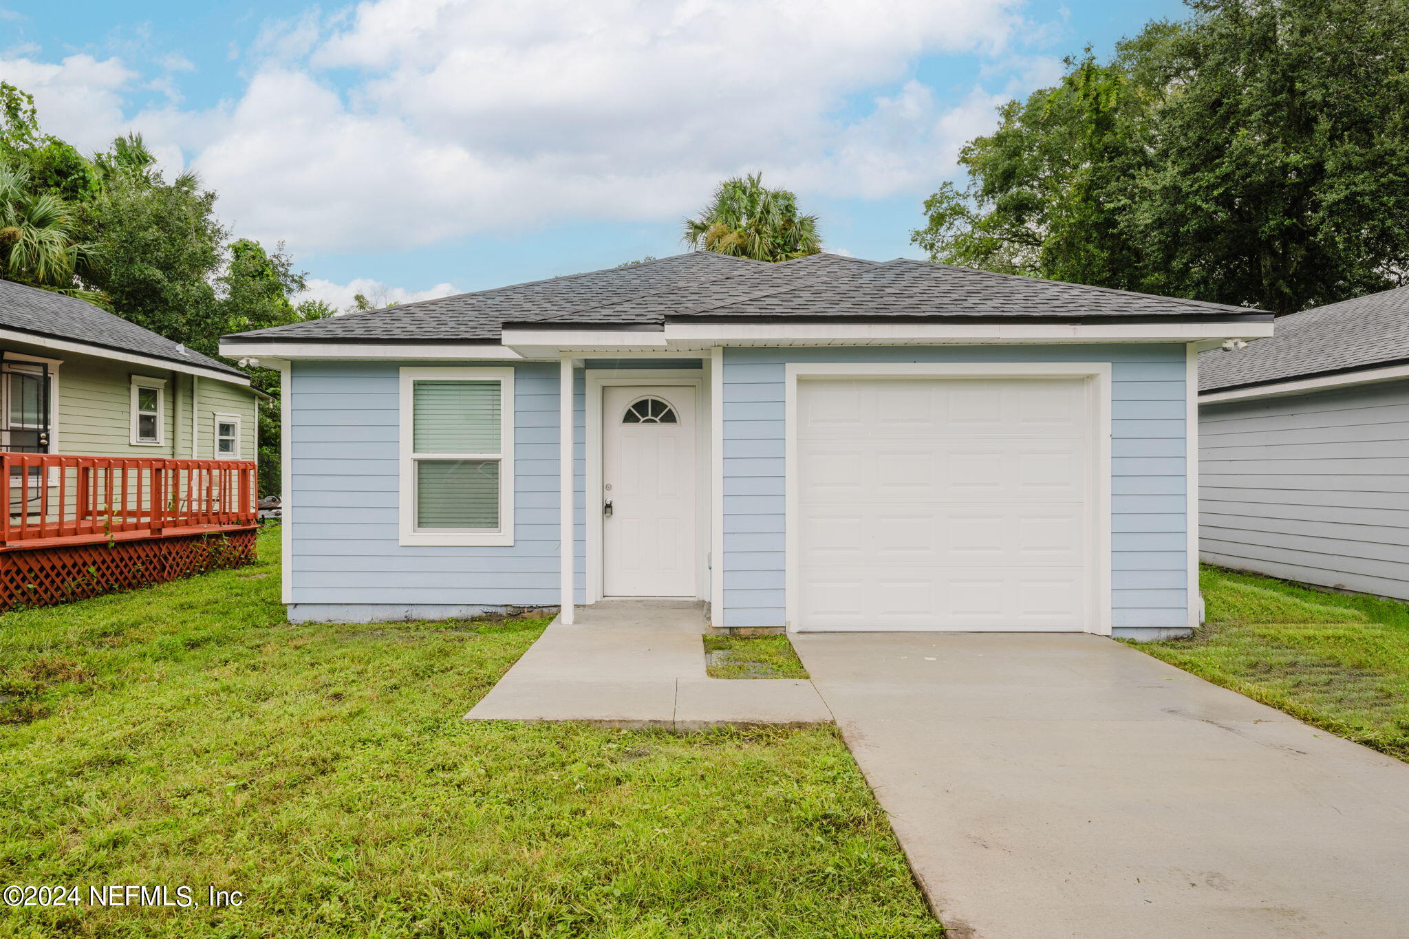
[{"label": "light blue siding around the blinds window, left of front door", "polygon": [[[397,543],[400,363],[293,363],[293,603],[559,603],[558,365],[514,369],[514,543],[452,548]],[[583,414],[579,376],[579,441]]]}]

